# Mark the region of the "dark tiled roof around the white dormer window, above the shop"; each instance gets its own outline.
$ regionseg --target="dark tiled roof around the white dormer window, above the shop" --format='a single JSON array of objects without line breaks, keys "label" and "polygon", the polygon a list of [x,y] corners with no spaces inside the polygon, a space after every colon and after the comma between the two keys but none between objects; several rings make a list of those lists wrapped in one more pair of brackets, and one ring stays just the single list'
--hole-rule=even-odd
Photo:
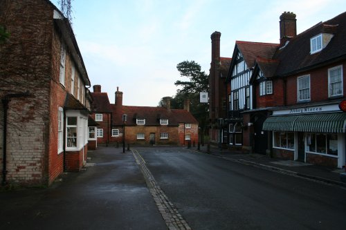
[{"label": "dark tiled roof around the white dormer window, above the shop", "polygon": [[[310,55],[310,39],[321,32],[333,33],[334,37],[320,52]],[[275,75],[291,75],[314,68],[320,64],[346,56],[346,12],[333,19],[316,24],[296,37],[284,48],[278,49],[273,59],[280,61]]]}]

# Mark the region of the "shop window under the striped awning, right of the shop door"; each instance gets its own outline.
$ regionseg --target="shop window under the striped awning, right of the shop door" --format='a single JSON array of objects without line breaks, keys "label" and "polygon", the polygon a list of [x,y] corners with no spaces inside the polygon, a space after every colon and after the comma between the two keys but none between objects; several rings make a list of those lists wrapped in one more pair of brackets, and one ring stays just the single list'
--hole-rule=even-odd
[{"label": "shop window under the striped awning, right of the shop door", "polygon": [[307,151],[328,155],[338,155],[338,135],[326,133],[308,133]]}]

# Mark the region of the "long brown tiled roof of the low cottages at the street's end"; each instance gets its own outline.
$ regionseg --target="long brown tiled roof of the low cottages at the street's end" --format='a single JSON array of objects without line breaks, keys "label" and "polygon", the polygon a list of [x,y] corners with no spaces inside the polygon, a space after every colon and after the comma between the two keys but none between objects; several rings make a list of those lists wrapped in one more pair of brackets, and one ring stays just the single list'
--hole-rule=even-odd
[{"label": "long brown tiled roof of the low cottages at the street's end", "polygon": [[145,119],[146,126],[160,125],[160,119],[168,119],[169,126],[177,126],[179,123],[198,124],[192,114],[183,109],[171,109],[149,106],[122,106],[121,111],[113,108],[113,125],[122,124],[122,115],[127,115],[127,125],[136,125],[136,119]]}]

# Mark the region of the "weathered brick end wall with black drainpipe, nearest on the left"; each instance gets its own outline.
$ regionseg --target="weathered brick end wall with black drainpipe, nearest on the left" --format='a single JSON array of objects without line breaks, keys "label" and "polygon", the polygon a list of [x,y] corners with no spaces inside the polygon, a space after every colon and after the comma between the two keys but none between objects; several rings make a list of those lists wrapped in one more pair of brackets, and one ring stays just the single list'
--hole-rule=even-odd
[{"label": "weathered brick end wall with black drainpipe, nearest on the left", "polygon": [[[0,21],[11,34],[0,46],[0,76],[6,76],[1,77],[0,98],[8,93],[30,93],[30,97],[13,98],[9,104],[7,180],[46,184],[53,8],[47,1],[1,1]],[[0,113],[2,137],[2,105]]]}]

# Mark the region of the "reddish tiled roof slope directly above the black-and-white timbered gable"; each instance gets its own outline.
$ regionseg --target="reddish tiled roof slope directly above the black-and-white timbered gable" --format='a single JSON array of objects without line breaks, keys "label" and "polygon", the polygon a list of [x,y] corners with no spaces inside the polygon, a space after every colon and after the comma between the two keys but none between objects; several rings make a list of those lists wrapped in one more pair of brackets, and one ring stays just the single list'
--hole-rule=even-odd
[{"label": "reddish tiled roof slope directly above the black-and-white timbered gable", "polygon": [[248,68],[255,66],[257,57],[270,59],[273,57],[276,48],[279,44],[251,42],[251,41],[236,41],[237,48],[242,52],[244,61]]}]

